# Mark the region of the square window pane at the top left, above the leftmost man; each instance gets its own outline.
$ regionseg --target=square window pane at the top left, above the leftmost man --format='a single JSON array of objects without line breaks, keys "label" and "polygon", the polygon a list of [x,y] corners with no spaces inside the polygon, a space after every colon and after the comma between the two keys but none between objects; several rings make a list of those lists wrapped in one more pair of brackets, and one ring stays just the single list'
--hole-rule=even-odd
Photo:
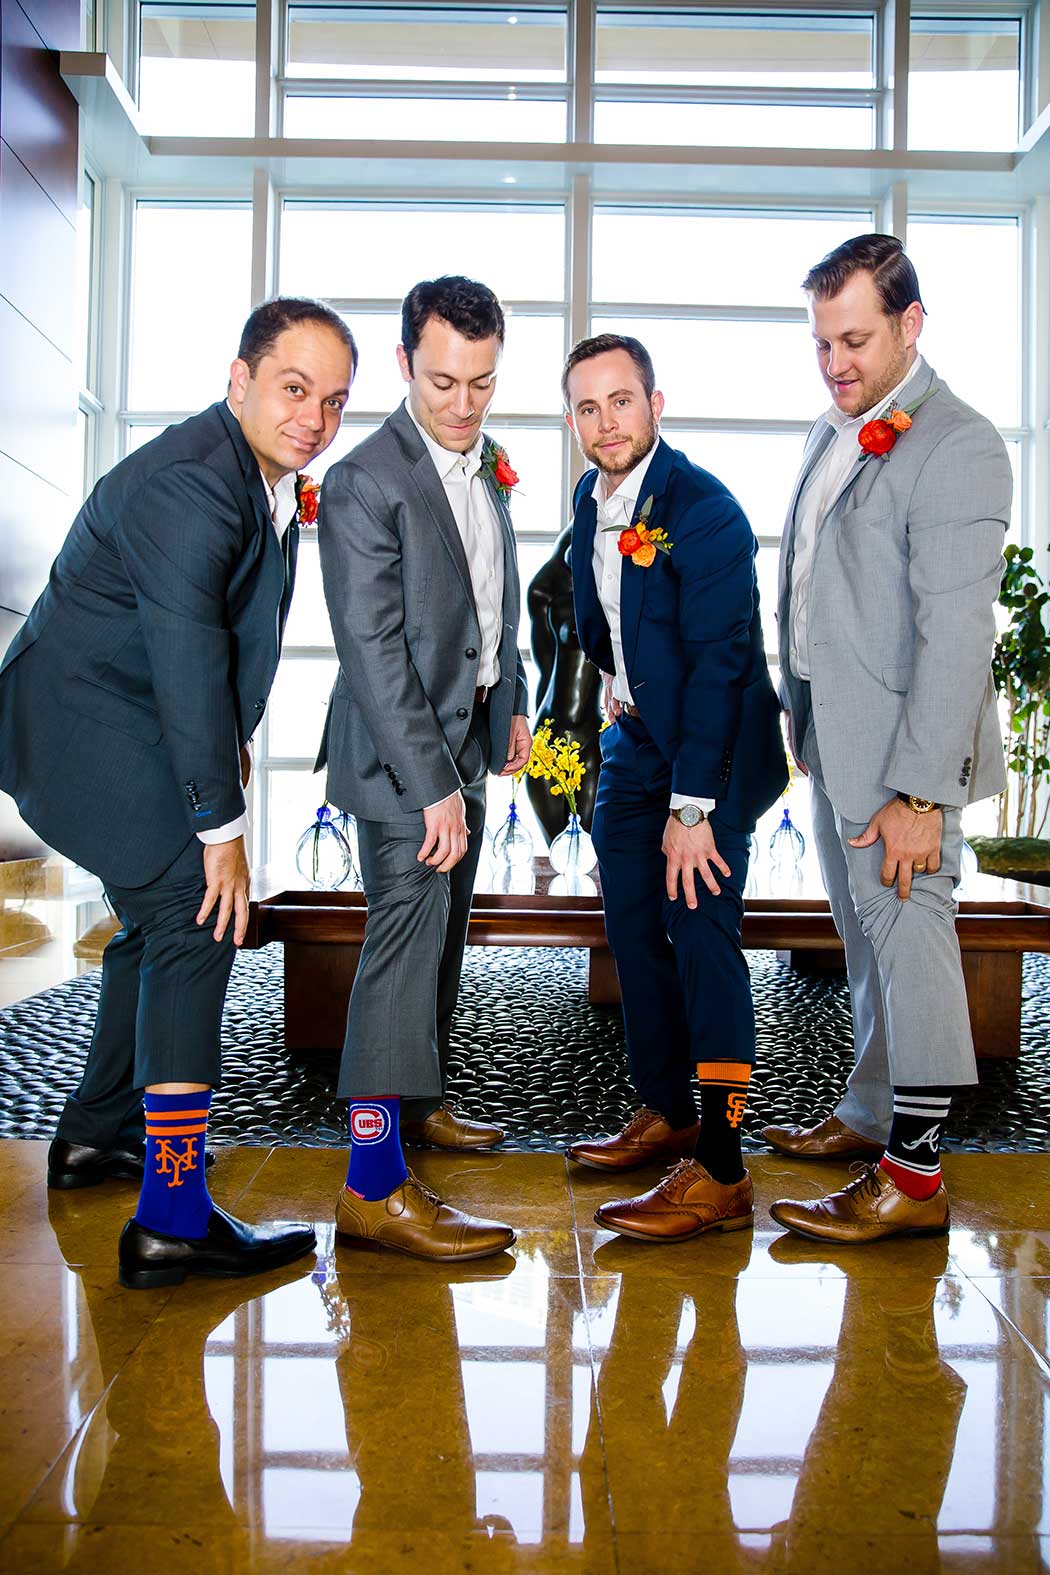
[{"label": "square window pane at the top left, above the leftmost man", "polygon": [[[214,14],[205,14],[214,13]],[[255,8],[142,6],[139,109],[153,135],[250,137]]]}]

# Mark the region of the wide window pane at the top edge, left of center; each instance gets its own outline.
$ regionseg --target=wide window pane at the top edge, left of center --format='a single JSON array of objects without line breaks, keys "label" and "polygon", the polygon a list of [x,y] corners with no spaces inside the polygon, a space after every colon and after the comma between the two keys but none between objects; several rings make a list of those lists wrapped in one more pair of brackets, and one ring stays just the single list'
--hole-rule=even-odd
[{"label": "wide window pane at the top edge, left of center", "polygon": [[293,5],[288,76],[564,82],[565,11]]}]

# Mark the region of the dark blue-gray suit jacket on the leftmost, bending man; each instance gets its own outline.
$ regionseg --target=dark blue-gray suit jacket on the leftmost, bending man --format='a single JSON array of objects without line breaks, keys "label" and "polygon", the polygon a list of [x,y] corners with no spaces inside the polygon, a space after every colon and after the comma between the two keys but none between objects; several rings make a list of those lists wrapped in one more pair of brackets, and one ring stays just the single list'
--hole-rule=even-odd
[{"label": "dark blue-gray suit jacket on the leftmost, bending man", "polygon": [[0,663],[0,788],[46,843],[139,887],[242,814],[298,539],[225,402],[102,477]]}]

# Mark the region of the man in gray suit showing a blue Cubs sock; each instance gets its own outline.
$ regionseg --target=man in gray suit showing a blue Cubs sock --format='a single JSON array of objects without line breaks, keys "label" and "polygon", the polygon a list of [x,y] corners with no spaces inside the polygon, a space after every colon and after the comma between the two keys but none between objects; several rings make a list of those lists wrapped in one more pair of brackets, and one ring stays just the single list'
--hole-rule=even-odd
[{"label": "man in gray suit showing a blue Cubs sock", "polygon": [[518,477],[482,432],[502,343],[485,285],[416,285],[398,346],[408,398],[332,466],[321,498],[340,671],[318,767],[357,817],[368,899],[338,1080],[351,1153],[337,1225],[427,1258],[513,1241],[420,1188],[398,1134],[403,1121],[405,1137],[453,1150],[502,1139],[444,1102],[485,776],[519,770],[532,747],[507,507]]}]

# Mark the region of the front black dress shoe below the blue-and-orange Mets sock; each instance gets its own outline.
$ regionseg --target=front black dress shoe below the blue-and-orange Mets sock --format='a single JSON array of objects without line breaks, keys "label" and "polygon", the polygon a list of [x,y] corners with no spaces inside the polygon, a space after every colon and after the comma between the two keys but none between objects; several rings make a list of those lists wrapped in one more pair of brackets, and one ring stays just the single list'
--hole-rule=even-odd
[{"label": "front black dress shoe below the blue-and-orange Mets sock", "polygon": [[120,1233],[120,1282],[129,1290],[181,1285],[187,1274],[264,1274],[316,1247],[312,1225],[246,1225],[213,1208],[200,1240],[165,1236],[129,1219]]}]

